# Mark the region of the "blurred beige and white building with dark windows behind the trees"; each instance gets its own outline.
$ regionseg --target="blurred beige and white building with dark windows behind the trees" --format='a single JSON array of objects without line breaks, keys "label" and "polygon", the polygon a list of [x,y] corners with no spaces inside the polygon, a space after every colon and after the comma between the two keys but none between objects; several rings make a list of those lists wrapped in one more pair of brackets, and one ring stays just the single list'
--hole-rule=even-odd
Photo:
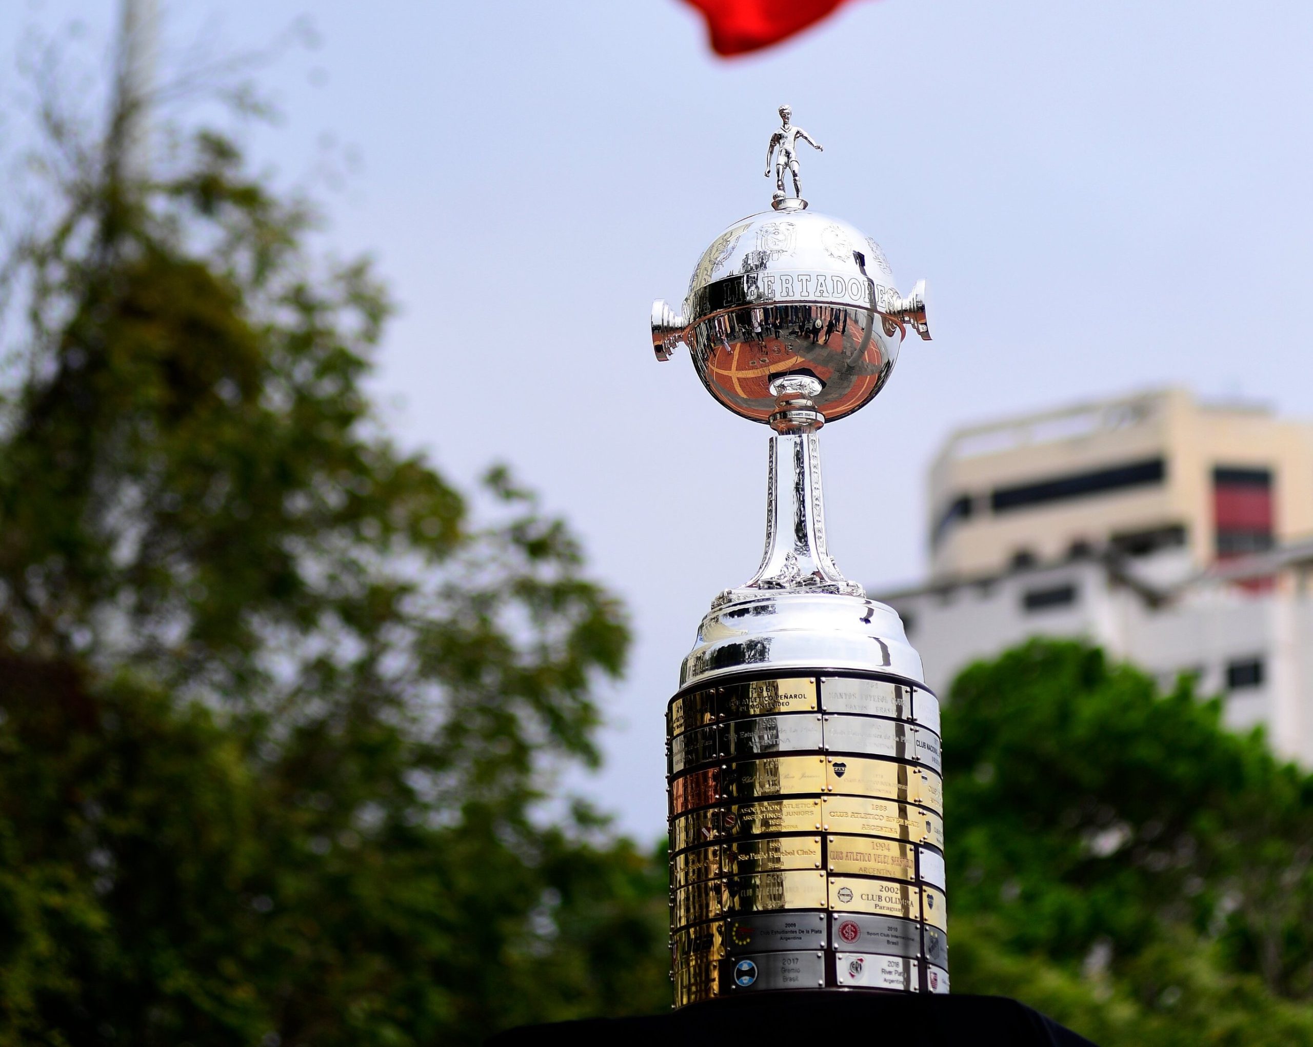
[{"label": "blurred beige and white building with dark windows behind the trees", "polygon": [[1152,392],[955,433],[930,485],[931,580],[880,598],[932,688],[1081,636],[1313,764],[1313,425]]}]

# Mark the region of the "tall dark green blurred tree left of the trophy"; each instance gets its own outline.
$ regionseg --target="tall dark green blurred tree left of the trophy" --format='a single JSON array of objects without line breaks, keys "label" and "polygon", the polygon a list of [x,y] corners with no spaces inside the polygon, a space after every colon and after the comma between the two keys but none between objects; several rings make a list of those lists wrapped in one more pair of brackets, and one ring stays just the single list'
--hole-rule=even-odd
[{"label": "tall dark green blurred tree left of the trophy", "polygon": [[0,1043],[664,1005],[658,855],[540,813],[629,639],[566,526],[387,438],[385,291],[230,140],[56,138],[5,266]]}]

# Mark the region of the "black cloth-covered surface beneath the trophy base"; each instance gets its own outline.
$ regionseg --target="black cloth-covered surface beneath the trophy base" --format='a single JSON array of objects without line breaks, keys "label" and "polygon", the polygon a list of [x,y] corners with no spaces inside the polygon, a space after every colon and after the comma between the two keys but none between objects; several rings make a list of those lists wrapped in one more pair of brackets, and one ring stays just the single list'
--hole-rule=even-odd
[{"label": "black cloth-covered surface beneath the trophy base", "polygon": [[670,1014],[525,1025],[488,1047],[557,1040],[608,1044],[909,1043],[916,1047],[1094,1047],[1037,1010],[1002,996],[788,992],[710,1000]]}]

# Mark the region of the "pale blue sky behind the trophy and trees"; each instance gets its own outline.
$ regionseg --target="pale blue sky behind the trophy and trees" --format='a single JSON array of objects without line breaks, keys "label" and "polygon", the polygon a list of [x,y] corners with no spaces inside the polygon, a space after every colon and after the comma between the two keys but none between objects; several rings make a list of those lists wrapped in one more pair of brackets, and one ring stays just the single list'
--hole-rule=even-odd
[{"label": "pale blue sky behind the trophy and trees", "polygon": [[[856,0],[733,62],[676,0],[164,7],[173,54],[312,13],[322,45],[263,77],[285,121],[252,151],[289,177],[326,134],[358,154],[327,241],[372,252],[402,304],[387,417],[462,482],[511,462],[628,600],[608,765],[582,787],[645,837],[679,661],[756,565],[767,432],[687,356],[653,361],[647,311],[767,205],[781,102],[826,147],[813,207],[934,294],[935,341],[822,437],[850,575],[920,575],[924,468],[964,422],[1162,383],[1313,415],[1306,0]],[[5,89],[21,29],[75,16],[104,41],[117,4],[9,5]]]}]

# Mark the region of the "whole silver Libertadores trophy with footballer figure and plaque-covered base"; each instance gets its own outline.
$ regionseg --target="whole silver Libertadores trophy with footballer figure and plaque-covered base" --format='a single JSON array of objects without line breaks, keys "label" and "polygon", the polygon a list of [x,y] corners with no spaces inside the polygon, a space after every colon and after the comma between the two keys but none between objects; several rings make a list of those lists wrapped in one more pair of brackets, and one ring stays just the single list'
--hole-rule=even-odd
[{"label": "whole silver Libertadores trophy with footballer figure and plaque-covered base", "polygon": [[[667,712],[675,1006],[790,989],[947,992],[939,701],[826,548],[817,433],[884,388],[924,283],[801,198],[780,109],[771,210],[706,248],[653,346],[771,426],[765,551],[722,592]],[[785,194],[785,176],[793,195]]]}]

